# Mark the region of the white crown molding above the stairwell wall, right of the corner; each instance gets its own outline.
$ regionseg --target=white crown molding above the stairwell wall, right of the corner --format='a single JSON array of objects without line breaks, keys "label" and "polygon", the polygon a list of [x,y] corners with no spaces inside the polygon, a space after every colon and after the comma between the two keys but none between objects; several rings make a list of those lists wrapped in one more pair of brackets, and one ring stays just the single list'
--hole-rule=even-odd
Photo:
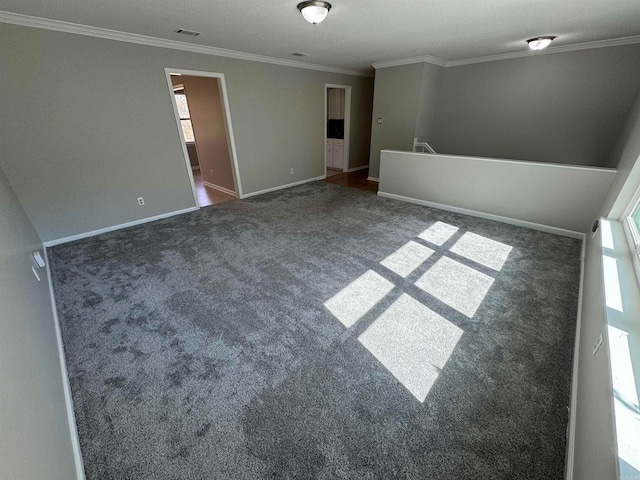
[{"label": "white crown molding above the stairwell wall, right of the corner", "polygon": [[[523,42],[524,43],[524,42]],[[431,63],[439,67],[459,67],[461,65],[471,65],[473,63],[494,62],[496,60],[508,60],[511,58],[532,57],[537,55],[548,55],[550,53],[574,52],[578,50],[588,50],[592,48],[617,47],[620,45],[633,45],[640,43],[640,35],[630,37],[611,38],[607,40],[596,40],[593,42],[575,43],[573,45],[563,45],[559,47],[549,47],[544,50],[522,50],[519,52],[499,53],[497,55],[486,55],[483,57],[463,58],[460,60],[442,60],[431,55],[423,55],[420,57],[399,58],[397,60],[389,60],[386,62],[376,62],[371,64],[376,70],[379,68],[398,67],[401,65],[411,65],[413,63]],[[523,46],[523,48],[525,48]]]}]

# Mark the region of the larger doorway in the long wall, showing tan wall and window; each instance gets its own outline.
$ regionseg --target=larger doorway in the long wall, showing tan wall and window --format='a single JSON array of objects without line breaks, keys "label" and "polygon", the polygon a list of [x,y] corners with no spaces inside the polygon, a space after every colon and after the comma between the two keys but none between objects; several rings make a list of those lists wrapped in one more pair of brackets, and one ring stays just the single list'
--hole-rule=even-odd
[{"label": "larger doorway in the long wall, showing tan wall and window", "polygon": [[165,68],[198,207],[242,198],[224,75]]}]

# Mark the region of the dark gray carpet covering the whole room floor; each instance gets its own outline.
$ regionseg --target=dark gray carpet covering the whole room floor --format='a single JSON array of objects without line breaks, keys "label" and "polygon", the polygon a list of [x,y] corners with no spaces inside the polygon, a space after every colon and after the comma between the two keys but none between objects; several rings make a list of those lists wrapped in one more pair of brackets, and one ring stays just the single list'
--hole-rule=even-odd
[{"label": "dark gray carpet covering the whole room floor", "polygon": [[88,479],[563,477],[577,240],[311,183],[49,256]]}]

